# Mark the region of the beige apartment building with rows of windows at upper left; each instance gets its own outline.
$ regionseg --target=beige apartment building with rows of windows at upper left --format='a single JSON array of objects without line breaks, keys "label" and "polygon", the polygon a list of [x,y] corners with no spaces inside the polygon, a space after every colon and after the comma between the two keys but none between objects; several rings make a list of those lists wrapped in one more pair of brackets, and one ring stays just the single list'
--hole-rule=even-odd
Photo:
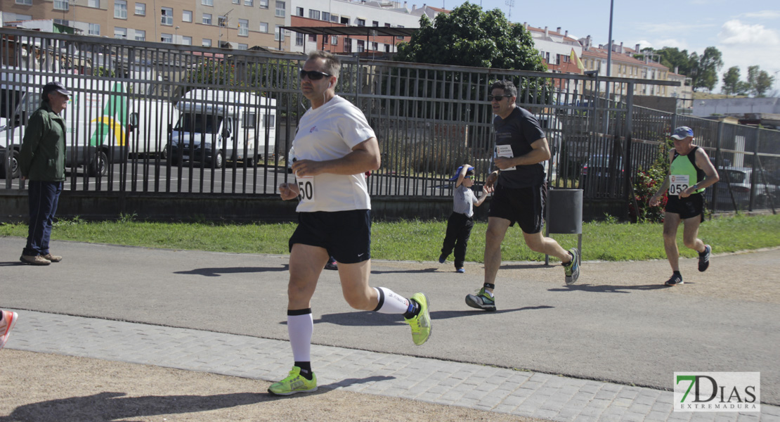
[{"label": "beige apartment building with rows of windows at upper left", "polygon": [[[0,0],[3,26],[137,41],[289,51],[290,0]],[[30,22],[37,21],[37,22]]]}]

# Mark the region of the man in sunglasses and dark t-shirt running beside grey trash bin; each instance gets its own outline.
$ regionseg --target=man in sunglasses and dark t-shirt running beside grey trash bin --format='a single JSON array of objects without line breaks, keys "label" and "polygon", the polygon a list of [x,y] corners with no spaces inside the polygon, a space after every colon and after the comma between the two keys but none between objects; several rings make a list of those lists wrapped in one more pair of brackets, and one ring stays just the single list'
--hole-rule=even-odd
[{"label": "man in sunglasses and dark t-shirt running beside grey trash bin", "polygon": [[511,81],[493,83],[488,101],[496,115],[493,161],[498,169],[485,181],[488,191],[494,193],[485,233],[484,285],[476,295],[466,296],[466,304],[495,310],[495,276],[501,266],[501,243],[510,226],[519,225],[531,250],[561,260],[567,285],[580,277],[580,257],[576,248],[567,251],[541,233],[547,200],[542,163],[550,159],[550,147],[539,122],[517,107],[517,88]]}]

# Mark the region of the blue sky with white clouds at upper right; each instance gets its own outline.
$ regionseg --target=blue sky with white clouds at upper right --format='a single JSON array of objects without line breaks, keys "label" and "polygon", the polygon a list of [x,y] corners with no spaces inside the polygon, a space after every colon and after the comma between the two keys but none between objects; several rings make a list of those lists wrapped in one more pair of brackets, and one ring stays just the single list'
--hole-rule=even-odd
[{"label": "blue sky with white clouds at upper right", "polygon": [[[513,6],[508,3],[512,2]],[[574,37],[593,38],[607,44],[609,0],[479,0],[483,9],[502,9],[512,22],[532,27],[569,30]],[[417,5],[422,5],[418,2]],[[427,5],[454,9],[461,1],[442,0]],[[510,15],[511,11],[511,15]],[[743,80],[747,67],[758,65],[775,77],[780,89],[780,2],[778,0],[617,0],[612,16],[612,39],[633,48],[676,47],[696,51],[716,47],[723,55],[722,73],[739,66]],[[778,73],[775,73],[778,72]],[[720,87],[715,88],[720,92]]]}]

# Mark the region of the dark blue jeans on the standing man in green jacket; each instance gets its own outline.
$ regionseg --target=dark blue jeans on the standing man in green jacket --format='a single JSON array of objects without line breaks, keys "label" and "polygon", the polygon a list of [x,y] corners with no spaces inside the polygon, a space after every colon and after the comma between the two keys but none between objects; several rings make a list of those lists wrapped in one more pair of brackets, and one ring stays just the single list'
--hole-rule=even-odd
[{"label": "dark blue jeans on the standing man in green jacket", "polygon": [[30,180],[27,184],[30,197],[30,229],[27,232],[27,246],[23,255],[35,256],[49,253],[48,243],[51,237],[51,223],[57,212],[62,182],[38,182]]}]

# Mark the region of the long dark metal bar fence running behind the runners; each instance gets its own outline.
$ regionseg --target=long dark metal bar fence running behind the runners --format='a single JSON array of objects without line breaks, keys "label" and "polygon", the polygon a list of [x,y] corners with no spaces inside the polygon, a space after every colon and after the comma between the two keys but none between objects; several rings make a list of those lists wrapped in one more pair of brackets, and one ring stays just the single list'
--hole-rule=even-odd
[{"label": "long dark metal bar fence running behind the runners", "polygon": [[[2,28],[0,187],[24,189],[13,176],[27,115],[40,87],[61,80],[74,92],[65,113],[66,190],[274,195],[291,177],[288,151],[307,108],[297,76],[304,60]],[[368,179],[370,193],[449,196],[446,179],[466,162],[484,179],[493,154],[488,89],[499,79],[519,87],[518,105],[548,133],[551,186],[582,188],[587,201],[627,209],[633,175],[663,156],[673,127],[686,125],[734,179],[708,190],[712,209],[772,207],[777,200],[780,134],[633,105],[636,83],[672,83],[344,57],[336,92],[363,110],[380,141],[382,165]],[[217,101],[188,99],[196,90],[224,94]],[[213,120],[227,132],[212,128],[200,140],[186,137],[196,131],[196,123],[183,119],[186,101],[204,106],[190,116],[196,123]]]}]

